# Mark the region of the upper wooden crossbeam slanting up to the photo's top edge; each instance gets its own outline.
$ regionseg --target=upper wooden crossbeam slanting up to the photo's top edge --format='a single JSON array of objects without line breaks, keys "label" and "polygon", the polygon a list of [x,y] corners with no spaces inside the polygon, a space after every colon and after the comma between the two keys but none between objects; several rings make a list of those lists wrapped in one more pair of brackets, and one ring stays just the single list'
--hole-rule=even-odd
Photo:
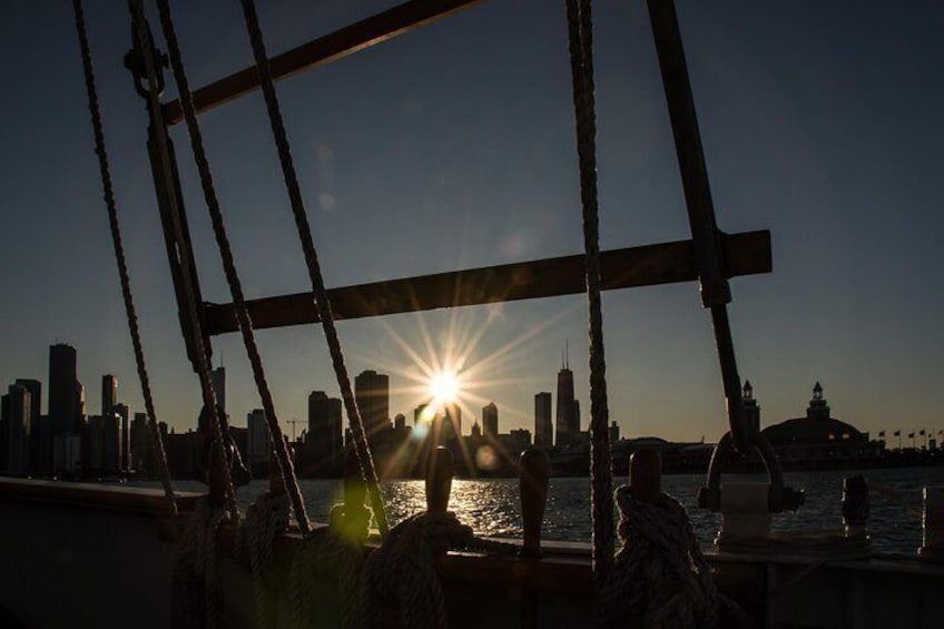
[{"label": "upper wooden crossbeam slanting up to the photo's top edge", "polygon": [[[287,78],[382,43],[482,2],[484,0],[411,0],[397,4],[273,57],[269,59],[272,76],[275,80]],[[197,112],[206,111],[250,94],[258,87],[259,78],[256,67],[245,68],[196,90],[194,106]],[[164,119],[167,125],[176,125],[184,119],[179,100],[164,105]]]}]

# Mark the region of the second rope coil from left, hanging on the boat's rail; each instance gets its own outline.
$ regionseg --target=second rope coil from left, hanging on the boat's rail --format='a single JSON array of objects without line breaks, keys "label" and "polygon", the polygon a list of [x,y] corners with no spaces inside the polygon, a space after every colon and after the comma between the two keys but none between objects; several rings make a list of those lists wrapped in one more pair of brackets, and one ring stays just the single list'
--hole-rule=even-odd
[{"label": "second rope coil from left, hanging on the boat's rail", "polygon": [[[268,596],[273,590],[266,579],[273,564],[273,539],[288,528],[288,497],[284,493],[264,493],[246,510],[246,517],[236,538],[236,552],[248,563],[253,581],[256,627],[273,626],[274,606]],[[267,591],[268,590],[268,591]]]}]

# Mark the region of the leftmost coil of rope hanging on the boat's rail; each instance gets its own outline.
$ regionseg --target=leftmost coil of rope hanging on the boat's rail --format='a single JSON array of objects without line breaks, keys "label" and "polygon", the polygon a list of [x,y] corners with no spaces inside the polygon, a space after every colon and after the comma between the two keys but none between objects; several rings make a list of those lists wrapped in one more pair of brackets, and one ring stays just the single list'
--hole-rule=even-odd
[{"label": "leftmost coil of rope hanging on the boat's rail", "polygon": [[216,573],[216,529],[226,509],[197,501],[177,547],[171,577],[170,618],[175,628],[215,629],[222,626],[222,599]]}]

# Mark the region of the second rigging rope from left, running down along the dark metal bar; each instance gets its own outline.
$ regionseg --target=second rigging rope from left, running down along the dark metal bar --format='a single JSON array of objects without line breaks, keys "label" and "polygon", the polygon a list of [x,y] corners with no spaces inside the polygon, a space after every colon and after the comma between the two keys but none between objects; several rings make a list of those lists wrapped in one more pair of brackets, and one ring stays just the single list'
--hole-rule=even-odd
[{"label": "second rigging rope from left, running down along the dark metal bar", "polygon": [[[151,42],[150,31],[147,26],[147,21],[144,16],[144,7],[141,0],[129,0],[128,8],[131,11],[131,20],[134,24],[134,36],[137,40],[138,48],[140,48],[141,52],[141,61],[144,62],[144,70],[147,75],[147,90],[146,97],[148,99],[148,107],[151,111],[160,111],[160,82],[158,79],[157,72],[157,63],[155,60],[155,51]],[[158,141],[158,150],[163,153],[165,158],[168,158],[169,148]],[[169,190],[170,193],[167,195],[168,203],[175,204],[176,196],[173,193],[175,190],[174,181],[170,180],[170,174],[165,170],[165,180],[163,181],[164,188]],[[176,215],[176,213],[170,213],[174,230],[177,237],[177,240],[181,240],[183,228],[180,226],[180,222]],[[187,308],[187,316],[190,322],[198,322],[199,317],[197,315],[197,303],[194,293],[194,287],[189,282],[189,277],[193,276],[194,269],[194,261],[190,257],[190,252],[188,247],[178,247],[177,254],[180,257],[180,264],[186,268],[186,273],[183,274],[183,287],[185,293],[185,307]],[[213,439],[219,444],[220,452],[224,453],[224,461],[226,461],[226,442],[223,438],[223,421],[220,415],[223,413],[223,409],[216,403],[216,394],[214,393],[213,385],[210,384],[209,376],[209,365],[207,364],[207,353],[204,345],[204,338],[199,334],[196,327],[189,327],[190,333],[193,334],[191,343],[196,348],[195,358],[197,363],[197,372],[199,375],[200,382],[200,394],[203,396],[204,409],[207,410],[207,414],[210,416],[210,427],[213,430]],[[227,509],[229,511],[229,515],[234,522],[239,521],[239,509],[236,505],[236,490],[233,487],[233,475],[229,470],[228,464],[222,465],[222,475],[224,483],[224,492],[225,500],[227,502]]]}]

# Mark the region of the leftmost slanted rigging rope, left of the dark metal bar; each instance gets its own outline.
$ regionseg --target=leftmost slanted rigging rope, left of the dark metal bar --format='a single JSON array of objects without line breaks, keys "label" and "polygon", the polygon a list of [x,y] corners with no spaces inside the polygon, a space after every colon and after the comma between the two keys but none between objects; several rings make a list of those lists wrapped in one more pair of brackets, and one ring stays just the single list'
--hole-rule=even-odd
[{"label": "leftmost slanted rigging rope, left of the dark metal bar", "polygon": [[105,146],[105,132],[101,125],[101,111],[98,107],[98,90],[95,86],[95,68],[89,49],[88,31],[86,29],[85,11],[81,0],[72,0],[72,9],[76,13],[76,30],[79,35],[79,47],[81,48],[82,68],[85,70],[86,91],[88,92],[89,114],[91,115],[92,132],[95,135],[95,153],[98,156],[98,167],[101,175],[101,187],[105,205],[108,208],[108,225],[111,229],[111,244],[115,248],[115,259],[118,264],[118,277],[121,283],[121,297],[125,302],[125,314],[128,320],[128,331],[131,334],[131,346],[135,351],[135,364],[138,370],[138,380],[141,384],[141,395],[145,399],[145,410],[148,416],[148,433],[150,445],[157,460],[157,470],[160,484],[164,487],[164,495],[167,501],[167,511],[173,518],[177,517],[177,502],[174,498],[174,484],[170,480],[170,470],[167,466],[167,453],[164,450],[164,440],[157,423],[157,412],[154,407],[154,397],[150,391],[150,379],[148,377],[145,353],[141,346],[140,328],[138,327],[138,314],[135,308],[135,298],[131,294],[131,281],[128,276],[128,263],[125,257],[125,245],[121,240],[121,227],[118,223],[118,208],[115,203],[115,190],[111,185],[111,169],[108,165],[108,150]]}]

